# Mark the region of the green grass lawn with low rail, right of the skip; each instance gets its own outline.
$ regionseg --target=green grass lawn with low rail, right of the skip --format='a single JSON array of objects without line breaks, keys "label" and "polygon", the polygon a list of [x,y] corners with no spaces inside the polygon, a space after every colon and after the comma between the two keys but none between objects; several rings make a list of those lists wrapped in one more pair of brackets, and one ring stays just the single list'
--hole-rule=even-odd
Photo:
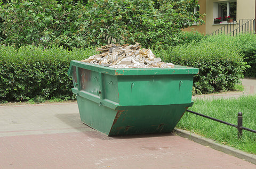
[{"label": "green grass lawn with low rail, right of the skip", "polygon": [[[189,110],[237,125],[237,113],[243,113],[243,126],[256,130],[256,96],[241,96],[229,99],[194,99]],[[186,112],[177,128],[189,130],[224,145],[256,154],[256,133],[243,130],[243,138],[237,139],[237,129],[233,126],[206,119]]]}]

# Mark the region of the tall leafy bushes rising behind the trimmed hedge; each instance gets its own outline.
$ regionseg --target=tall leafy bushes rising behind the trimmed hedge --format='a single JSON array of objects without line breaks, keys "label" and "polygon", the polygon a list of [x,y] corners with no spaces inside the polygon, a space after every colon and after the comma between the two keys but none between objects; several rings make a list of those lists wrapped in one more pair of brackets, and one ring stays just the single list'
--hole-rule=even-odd
[{"label": "tall leafy bushes rising behind the trimmed hedge", "polygon": [[[0,0],[0,4],[1,4]],[[85,1],[86,2],[86,1]],[[181,28],[198,22],[198,1],[11,1],[0,7],[3,44],[70,47],[139,42],[173,45]],[[1,39],[0,39],[1,40]]]}]

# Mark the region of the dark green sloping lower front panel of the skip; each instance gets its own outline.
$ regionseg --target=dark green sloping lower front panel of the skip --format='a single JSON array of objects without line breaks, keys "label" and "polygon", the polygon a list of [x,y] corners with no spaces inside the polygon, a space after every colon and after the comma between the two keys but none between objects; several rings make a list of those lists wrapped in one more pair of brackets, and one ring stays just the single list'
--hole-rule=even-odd
[{"label": "dark green sloping lower front panel of the skip", "polygon": [[118,107],[109,136],[171,132],[190,106],[192,103]]}]

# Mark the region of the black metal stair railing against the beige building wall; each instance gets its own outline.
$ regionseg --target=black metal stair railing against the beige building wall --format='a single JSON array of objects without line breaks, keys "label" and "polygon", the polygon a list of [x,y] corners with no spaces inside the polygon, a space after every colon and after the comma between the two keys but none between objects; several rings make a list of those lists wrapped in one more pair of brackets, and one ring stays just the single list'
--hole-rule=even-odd
[{"label": "black metal stair railing against the beige building wall", "polygon": [[210,35],[218,35],[219,33],[233,36],[238,33],[255,33],[255,19],[241,19],[238,22],[227,23]]}]

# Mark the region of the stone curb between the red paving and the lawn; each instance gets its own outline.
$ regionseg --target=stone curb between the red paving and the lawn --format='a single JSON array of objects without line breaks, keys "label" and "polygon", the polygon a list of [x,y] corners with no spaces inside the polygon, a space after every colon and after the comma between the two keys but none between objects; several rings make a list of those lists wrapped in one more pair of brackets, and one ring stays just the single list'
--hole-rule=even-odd
[{"label": "stone curb between the red paving and the lawn", "polygon": [[189,140],[195,141],[201,145],[209,146],[215,150],[222,151],[223,153],[233,155],[237,158],[241,158],[243,160],[246,160],[247,162],[250,162],[252,164],[256,164],[256,155],[246,153],[244,151],[235,149],[233,147],[229,147],[226,145],[220,145],[219,143],[215,142],[214,140],[204,138],[202,136],[198,136],[190,131],[181,130],[181,129],[174,129],[173,130],[175,134],[178,136],[181,136],[183,138],[187,138]]}]

